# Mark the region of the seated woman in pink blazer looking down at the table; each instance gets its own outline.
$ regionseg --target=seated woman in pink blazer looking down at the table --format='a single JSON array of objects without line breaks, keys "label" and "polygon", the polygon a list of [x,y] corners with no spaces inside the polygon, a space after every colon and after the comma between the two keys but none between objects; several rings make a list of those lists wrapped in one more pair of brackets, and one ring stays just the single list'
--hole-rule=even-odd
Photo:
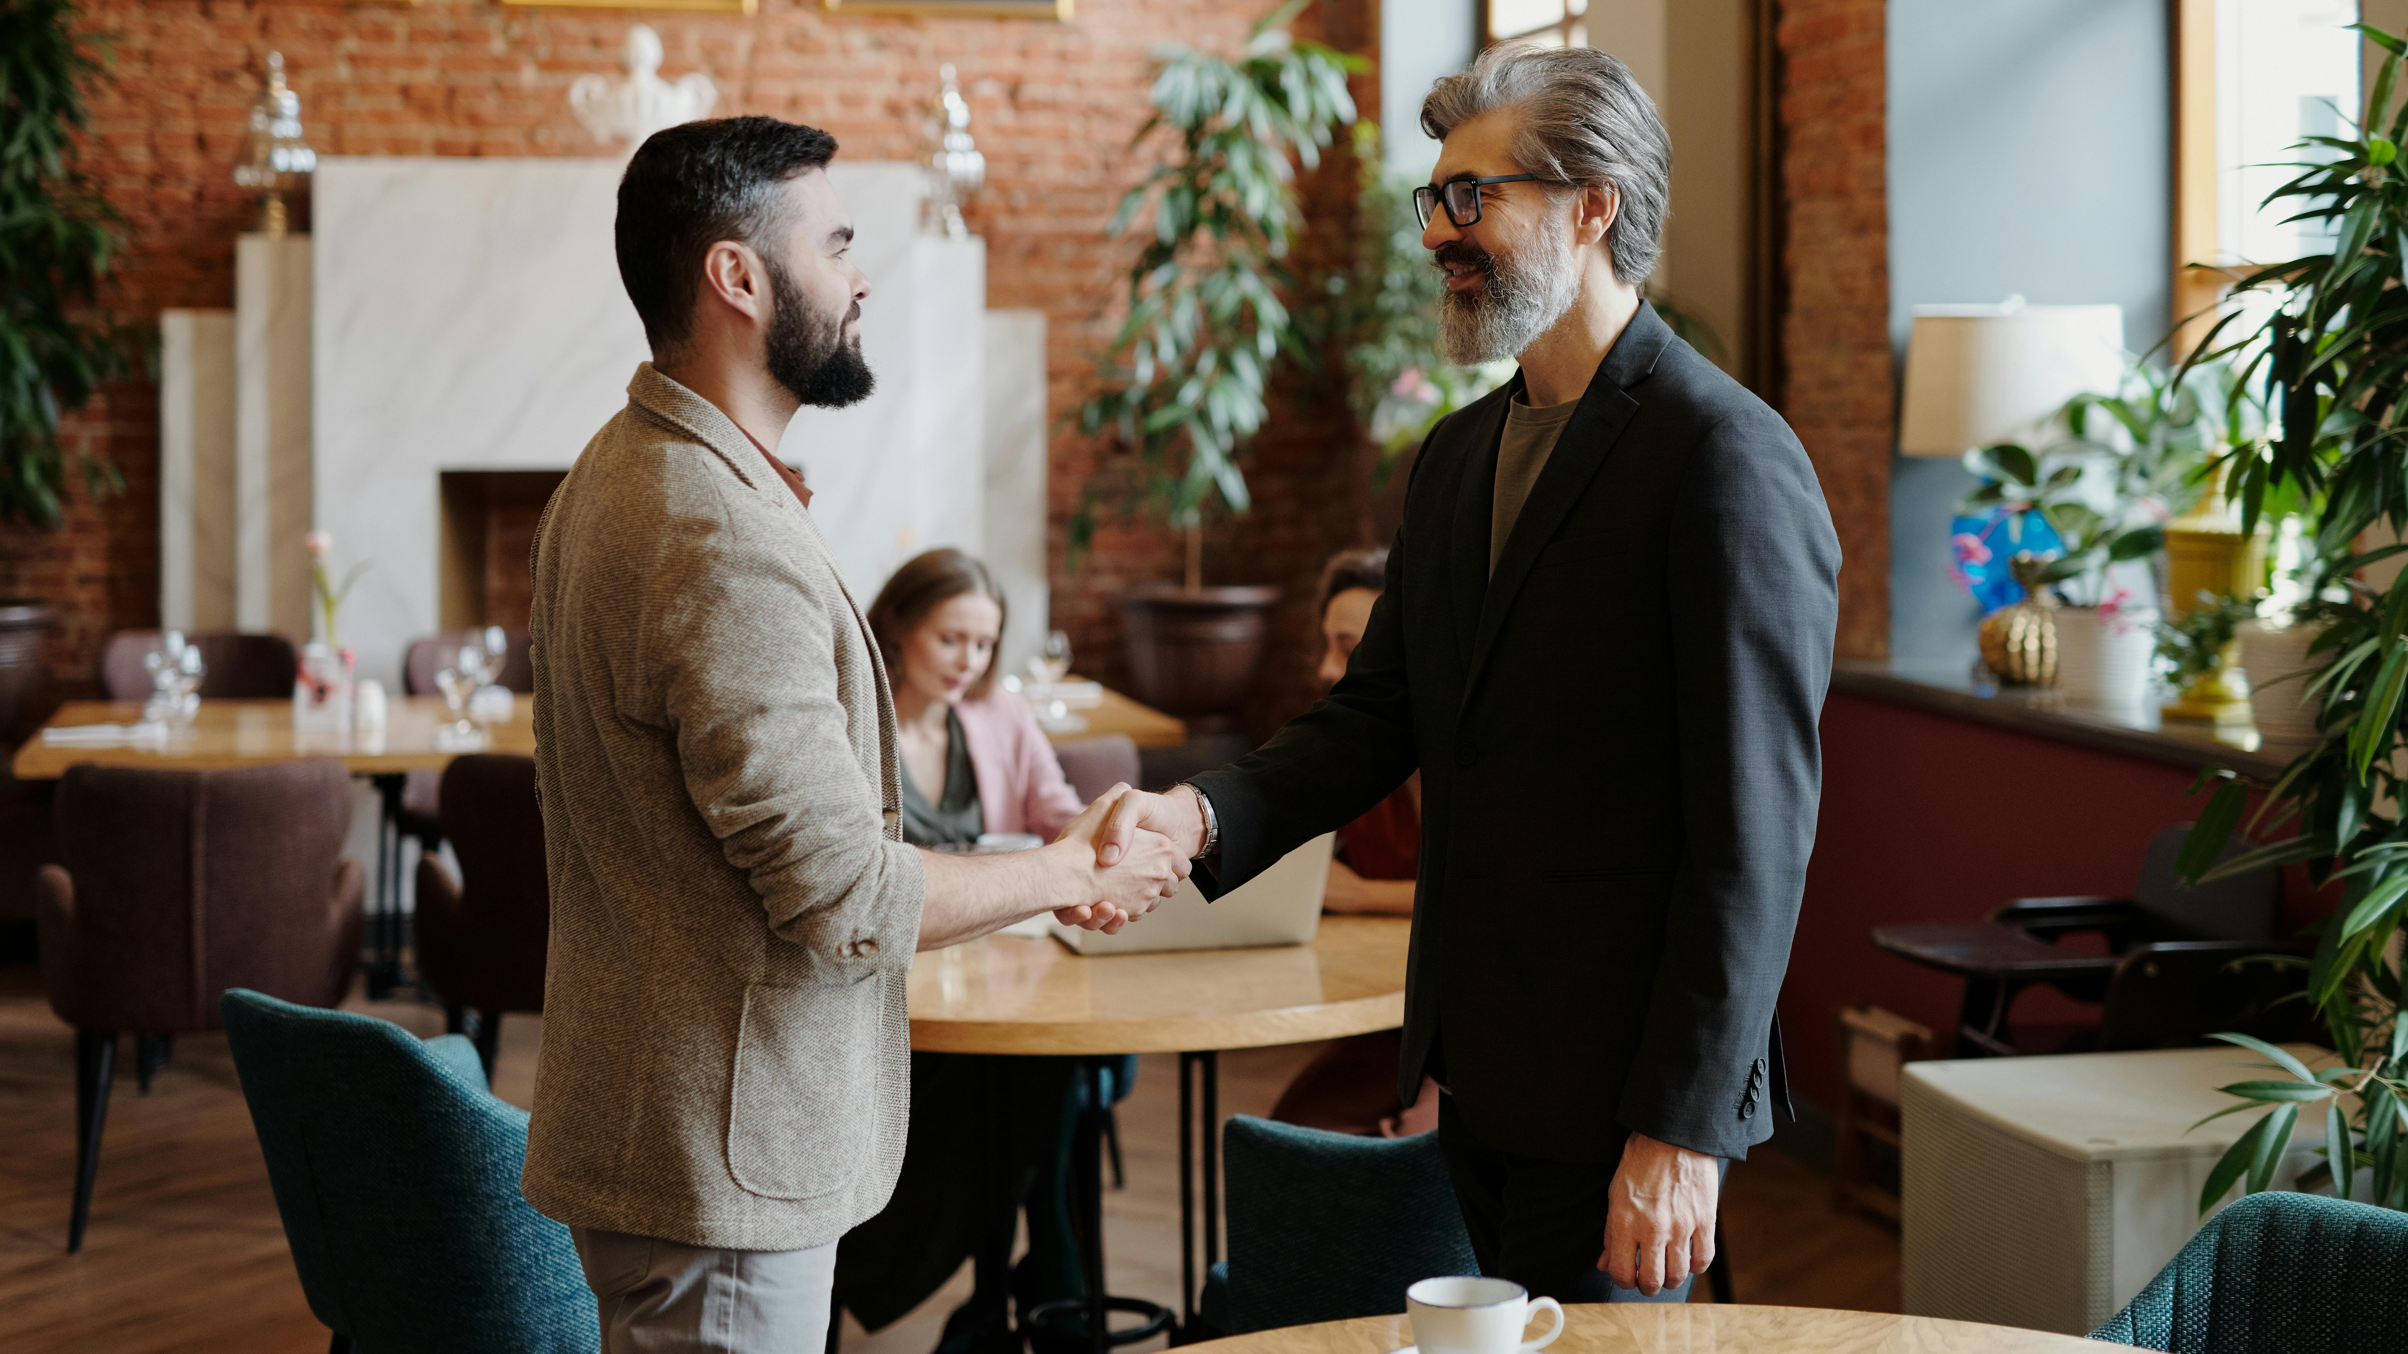
[{"label": "seated woman in pink blazer looking down at the table", "polygon": [[[1045,730],[1014,691],[995,684],[1004,593],[958,549],[929,549],[896,569],[869,602],[869,634],[886,660],[903,761],[903,838],[973,846],[982,831],[1052,841],[1086,805],[1062,778]],[[1047,942],[1050,944],[1050,942]],[[1072,1058],[910,1055],[910,1135],[886,1209],[836,1248],[836,1303],[879,1330],[927,1301],[978,1246],[978,1154],[1009,1140],[1026,1181],[1028,1255],[1014,1270],[1021,1311],[1084,1294],[1067,1193],[1067,1125],[1079,1089]],[[990,1118],[985,1094],[1009,1113]],[[1125,1072],[1115,1077],[1125,1087]],[[939,1354],[966,1354],[968,1308],[946,1323]]]}]

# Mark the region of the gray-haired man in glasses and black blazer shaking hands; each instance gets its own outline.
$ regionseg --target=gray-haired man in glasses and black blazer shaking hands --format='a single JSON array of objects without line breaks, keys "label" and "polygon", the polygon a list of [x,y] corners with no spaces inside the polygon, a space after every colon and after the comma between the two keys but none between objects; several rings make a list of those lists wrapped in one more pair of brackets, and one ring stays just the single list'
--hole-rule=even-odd
[{"label": "gray-haired man in glasses and black blazer shaking hands", "polygon": [[1640,299],[1671,145],[1630,72],[1498,46],[1421,118],[1450,357],[1522,371],[1423,443],[1346,679],[1103,858],[1141,824],[1233,889],[1418,769],[1399,1091],[1447,1091],[1481,1270],[1681,1299],[1787,1096],[1840,544],[1780,414]]}]

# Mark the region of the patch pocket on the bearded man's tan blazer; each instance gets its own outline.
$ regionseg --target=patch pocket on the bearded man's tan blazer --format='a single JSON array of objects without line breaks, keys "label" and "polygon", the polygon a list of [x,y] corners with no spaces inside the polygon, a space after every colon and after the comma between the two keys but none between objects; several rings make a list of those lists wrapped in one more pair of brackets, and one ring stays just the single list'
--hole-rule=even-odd
[{"label": "patch pocket on the bearded man's tan blazer", "polygon": [[869,1156],[884,983],[744,988],[727,1089],[727,1173],[746,1193],[811,1200]]}]

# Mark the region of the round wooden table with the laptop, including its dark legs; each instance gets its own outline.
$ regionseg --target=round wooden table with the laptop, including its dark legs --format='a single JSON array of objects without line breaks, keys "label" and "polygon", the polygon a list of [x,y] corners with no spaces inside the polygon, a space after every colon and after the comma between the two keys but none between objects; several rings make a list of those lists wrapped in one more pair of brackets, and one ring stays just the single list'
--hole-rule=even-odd
[{"label": "round wooden table with the laptop, including its dark legs", "polygon": [[[1144,925],[1139,920],[1137,925]],[[1202,1084],[1202,1234],[1204,1267],[1221,1260],[1218,1099],[1223,1048],[1269,1048],[1346,1038],[1404,1024],[1406,918],[1322,918],[1312,944],[1276,949],[1187,949],[1178,954],[1072,954],[1052,937],[990,935],[934,954],[910,969],[910,1046],[917,1053],[1180,1055],[1180,1332],[1194,1327],[1197,1299],[1197,1087]],[[1103,1075],[1091,1065],[1088,1106],[1076,1135],[1076,1166],[1088,1236],[1103,1236]],[[985,1077],[985,1118],[999,1125],[1002,1079]],[[990,1132],[990,1140],[1002,1140]],[[1016,1205],[1002,1190],[1007,1168],[985,1164],[987,1226],[978,1243],[975,1349],[1016,1349],[1009,1330],[1011,1231]],[[1105,1306],[1146,1315],[1144,1330],[1168,1318],[1153,1303],[1108,1299],[1103,1246],[1086,1246],[1086,1330],[1105,1354]],[[1112,1332],[1110,1344],[1134,1340]]]}]

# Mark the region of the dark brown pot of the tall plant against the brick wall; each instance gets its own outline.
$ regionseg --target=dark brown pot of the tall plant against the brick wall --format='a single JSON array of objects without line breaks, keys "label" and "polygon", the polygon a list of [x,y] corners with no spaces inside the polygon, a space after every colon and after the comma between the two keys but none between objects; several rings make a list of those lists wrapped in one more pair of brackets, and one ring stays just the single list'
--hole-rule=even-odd
[{"label": "dark brown pot of the tall plant against the brick wall", "polygon": [[1279,588],[1141,583],[1120,595],[1137,699],[1190,720],[1233,716],[1262,672],[1264,614]]}]

